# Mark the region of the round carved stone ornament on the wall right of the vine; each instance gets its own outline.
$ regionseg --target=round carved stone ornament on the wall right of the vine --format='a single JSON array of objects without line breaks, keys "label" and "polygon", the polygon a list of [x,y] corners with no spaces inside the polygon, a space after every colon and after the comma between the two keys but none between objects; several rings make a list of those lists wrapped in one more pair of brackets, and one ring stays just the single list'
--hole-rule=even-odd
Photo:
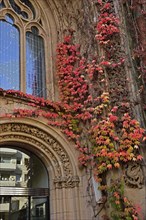
[{"label": "round carved stone ornament on the wall right of the vine", "polygon": [[141,189],[144,184],[141,165],[138,163],[130,163],[126,165],[124,179],[128,186]]}]

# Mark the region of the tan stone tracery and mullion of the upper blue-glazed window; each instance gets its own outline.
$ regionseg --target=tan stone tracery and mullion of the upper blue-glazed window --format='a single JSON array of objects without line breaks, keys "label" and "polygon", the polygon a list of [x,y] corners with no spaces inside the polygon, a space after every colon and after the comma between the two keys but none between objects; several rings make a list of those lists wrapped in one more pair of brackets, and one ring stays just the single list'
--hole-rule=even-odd
[{"label": "tan stone tracery and mullion of the upper blue-glazed window", "polygon": [[[31,0],[30,0],[31,2]],[[36,3],[35,3],[36,4]],[[48,32],[49,30],[45,30],[43,28],[43,25],[38,22],[39,19],[41,18],[39,14],[41,14],[40,7],[36,7],[36,18],[35,20],[29,20],[29,19],[22,19],[12,8],[10,8],[10,5],[6,1],[6,6],[5,8],[0,9],[0,20],[6,20],[5,16],[10,15],[13,20],[14,20],[14,25],[18,28],[19,33],[20,33],[20,75],[19,75],[19,80],[20,80],[20,91],[26,93],[26,33],[31,32],[32,27],[36,27],[39,31],[39,37],[43,39],[44,42],[44,57],[45,57],[45,87],[46,87],[46,97],[45,98],[51,98],[54,97],[54,91],[53,91],[53,80],[52,77],[47,73],[48,70],[50,69],[49,66],[52,65],[51,63],[49,64],[49,59],[51,60],[51,53],[50,53],[50,48],[48,47]],[[41,19],[42,22],[42,19]],[[42,22],[43,23],[43,22]],[[45,25],[44,25],[45,26]],[[22,62],[23,61],[23,62]],[[49,81],[50,78],[50,81]],[[49,88],[50,87],[50,88]],[[51,95],[51,97],[50,97]]]}]

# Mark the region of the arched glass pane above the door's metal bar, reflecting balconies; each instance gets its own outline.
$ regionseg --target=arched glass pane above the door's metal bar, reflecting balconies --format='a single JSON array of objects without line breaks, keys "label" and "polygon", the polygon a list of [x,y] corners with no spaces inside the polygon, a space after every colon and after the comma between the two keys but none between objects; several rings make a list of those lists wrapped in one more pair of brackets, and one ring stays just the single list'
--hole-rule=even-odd
[{"label": "arched glass pane above the door's metal bar, reflecting balconies", "polygon": [[34,154],[0,148],[0,186],[48,188],[48,174]]}]

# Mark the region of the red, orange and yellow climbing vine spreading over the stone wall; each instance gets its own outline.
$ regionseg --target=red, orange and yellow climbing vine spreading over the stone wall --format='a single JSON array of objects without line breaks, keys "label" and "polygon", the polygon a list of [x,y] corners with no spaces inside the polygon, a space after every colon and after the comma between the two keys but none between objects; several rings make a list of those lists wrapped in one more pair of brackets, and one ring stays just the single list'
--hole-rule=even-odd
[{"label": "red, orange and yellow climbing vine spreading over the stone wall", "polygon": [[[138,212],[120,186],[105,183],[105,174],[123,168],[128,162],[140,163],[144,129],[133,118],[124,73],[124,52],[119,48],[120,30],[113,5],[97,0],[98,23],[95,38],[102,56],[88,61],[74,43],[69,30],[57,47],[57,77],[60,102],[51,102],[14,90],[1,95],[21,97],[29,108],[14,109],[1,117],[45,117],[59,127],[79,150],[79,163],[93,171],[100,189],[108,197],[112,219],[138,220]],[[124,214],[123,214],[124,213]]]}]

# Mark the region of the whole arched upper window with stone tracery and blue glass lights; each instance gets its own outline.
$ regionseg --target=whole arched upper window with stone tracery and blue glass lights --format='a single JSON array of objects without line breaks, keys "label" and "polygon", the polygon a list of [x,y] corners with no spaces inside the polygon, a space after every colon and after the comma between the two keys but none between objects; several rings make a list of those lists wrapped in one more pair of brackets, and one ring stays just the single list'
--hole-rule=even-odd
[{"label": "whole arched upper window with stone tracery and blue glass lights", "polygon": [[46,97],[46,33],[35,2],[0,1],[0,88]]}]

